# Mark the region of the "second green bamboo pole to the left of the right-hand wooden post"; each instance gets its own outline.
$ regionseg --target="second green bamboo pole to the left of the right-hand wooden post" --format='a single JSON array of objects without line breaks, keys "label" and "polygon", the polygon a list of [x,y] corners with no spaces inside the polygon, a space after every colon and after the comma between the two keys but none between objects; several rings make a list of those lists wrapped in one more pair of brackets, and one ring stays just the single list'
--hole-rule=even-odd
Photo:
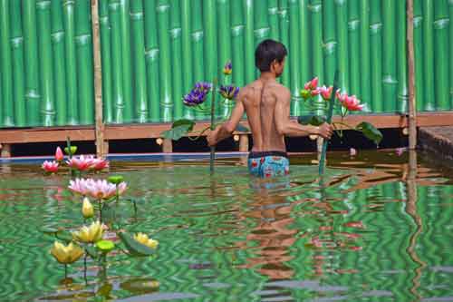
[{"label": "second green bamboo pole to the left of the right-hand wooden post", "polygon": [[394,0],[382,0],[382,92],[384,112],[394,112],[397,102],[396,88],[396,34]]}]

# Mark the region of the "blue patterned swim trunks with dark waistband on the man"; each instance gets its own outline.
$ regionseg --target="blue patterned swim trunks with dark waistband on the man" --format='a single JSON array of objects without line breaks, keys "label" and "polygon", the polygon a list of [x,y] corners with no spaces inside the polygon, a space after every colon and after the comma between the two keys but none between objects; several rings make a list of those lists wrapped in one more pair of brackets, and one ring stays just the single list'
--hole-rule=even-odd
[{"label": "blue patterned swim trunks with dark waistband on the man", "polygon": [[288,155],[282,151],[252,151],[248,154],[248,171],[262,178],[287,175]]}]

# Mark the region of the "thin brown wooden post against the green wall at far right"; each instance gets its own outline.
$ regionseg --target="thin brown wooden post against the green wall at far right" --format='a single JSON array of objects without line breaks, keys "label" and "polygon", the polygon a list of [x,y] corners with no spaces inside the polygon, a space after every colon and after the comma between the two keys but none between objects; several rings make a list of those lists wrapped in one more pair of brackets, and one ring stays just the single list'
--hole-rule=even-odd
[{"label": "thin brown wooden post against the green wall at far right", "polygon": [[414,66],[414,1],[407,0],[407,42],[409,67],[409,149],[417,147],[417,112],[415,99],[415,66]]}]

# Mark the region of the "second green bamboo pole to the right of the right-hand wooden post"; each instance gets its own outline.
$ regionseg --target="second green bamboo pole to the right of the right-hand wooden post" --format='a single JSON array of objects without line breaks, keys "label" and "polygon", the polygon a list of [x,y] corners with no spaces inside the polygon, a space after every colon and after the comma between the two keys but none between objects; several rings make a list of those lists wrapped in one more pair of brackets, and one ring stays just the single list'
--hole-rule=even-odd
[{"label": "second green bamboo pole to the right of the right-hand wooden post", "polygon": [[434,1],[423,1],[423,75],[425,92],[425,111],[436,109],[434,92]]}]

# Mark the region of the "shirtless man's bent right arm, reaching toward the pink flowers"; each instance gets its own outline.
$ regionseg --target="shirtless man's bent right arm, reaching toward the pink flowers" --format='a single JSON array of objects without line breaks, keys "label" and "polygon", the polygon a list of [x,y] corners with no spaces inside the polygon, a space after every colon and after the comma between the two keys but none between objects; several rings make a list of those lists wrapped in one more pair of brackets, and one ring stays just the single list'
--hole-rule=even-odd
[{"label": "shirtless man's bent right arm, reaching toward the pink flowers", "polygon": [[290,120],[291,93],[287,88],[280,88],[276,95],[275,126],[278,134],[285,136],[308,136],[315,134],[321,135],[323,138],[331,138],[333,127],[327,123],[316,127],[313,125],[302,125]]}]

